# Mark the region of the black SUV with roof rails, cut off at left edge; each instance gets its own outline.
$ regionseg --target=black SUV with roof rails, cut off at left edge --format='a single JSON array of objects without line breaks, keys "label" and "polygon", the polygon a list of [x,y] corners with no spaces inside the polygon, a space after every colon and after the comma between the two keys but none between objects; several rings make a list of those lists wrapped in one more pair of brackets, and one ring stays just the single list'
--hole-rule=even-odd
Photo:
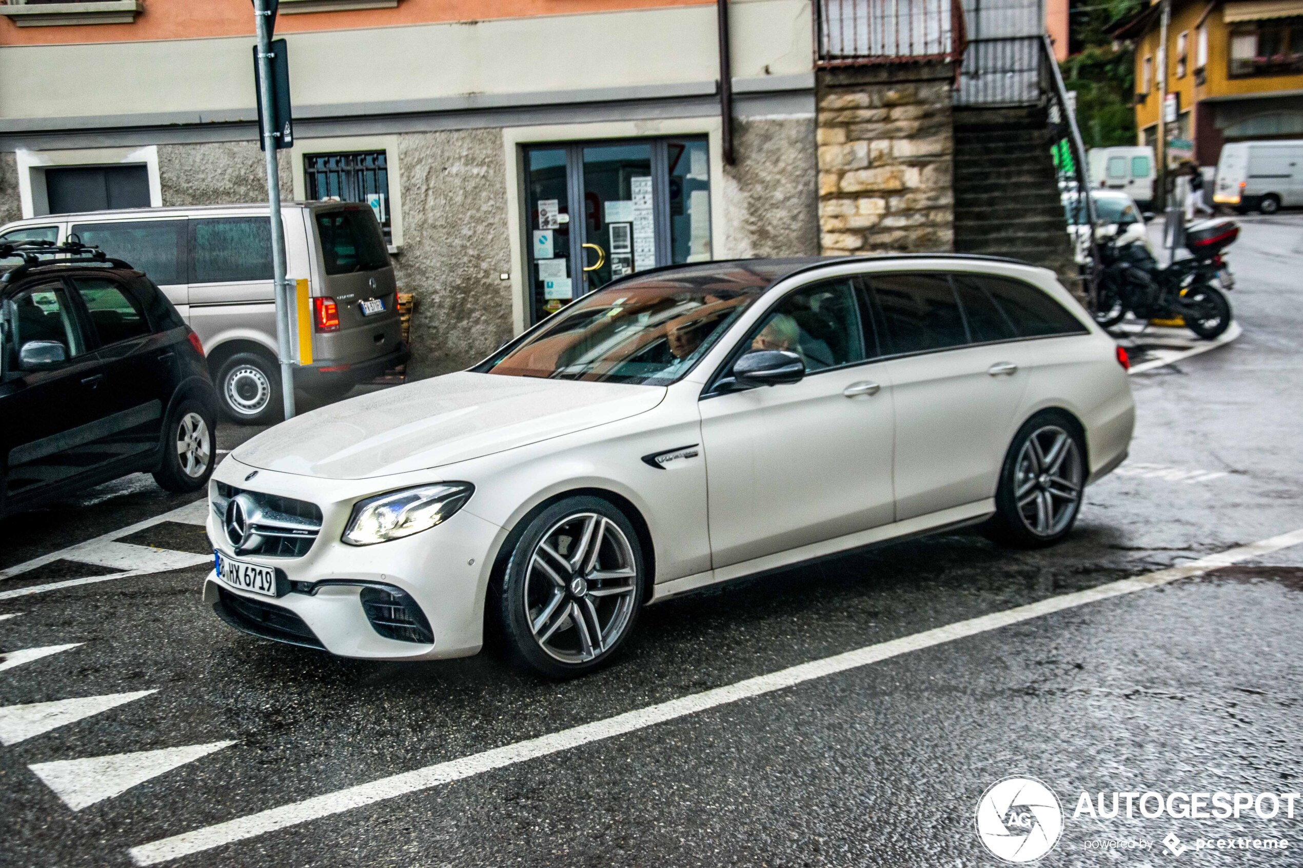
[{"label": "black SUV with roof rails, cut off at left edge", "polygon": [[[216,393],[199,338],[95,247],[0,245],[0,515],[138,471],[202,488]],[[3,268],[3,265],[0,265]]]}]

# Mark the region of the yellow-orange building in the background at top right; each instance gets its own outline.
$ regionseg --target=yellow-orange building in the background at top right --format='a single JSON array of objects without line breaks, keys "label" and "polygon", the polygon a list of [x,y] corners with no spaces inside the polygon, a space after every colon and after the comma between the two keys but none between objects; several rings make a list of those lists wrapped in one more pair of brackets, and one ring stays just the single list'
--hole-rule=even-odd
[{"label": "yellow-orange building in the background at top right", "polygon": [[1225,142],[1303,137],[1303,0],[1171,0],[1166,52],[1161,9],[1152,0],[1113,30],[1135,42],[1139,144],[1156,144],[1161,115],[1169,160],[1199,165]]}]

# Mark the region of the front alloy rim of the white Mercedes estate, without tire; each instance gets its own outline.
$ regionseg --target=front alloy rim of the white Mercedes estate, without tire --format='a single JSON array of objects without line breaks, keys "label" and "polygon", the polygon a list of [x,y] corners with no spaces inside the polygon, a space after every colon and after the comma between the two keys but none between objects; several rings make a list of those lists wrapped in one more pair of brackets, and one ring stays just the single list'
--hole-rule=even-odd
[{"label": "front alloy rim of the white Mercedes estate, without tire", "polygon": [[629,626],[638,579],[633,547],[619,524],[586,511],[560,519],[525,570],[525,618],[534,642],[562,662],[597,658]]}]

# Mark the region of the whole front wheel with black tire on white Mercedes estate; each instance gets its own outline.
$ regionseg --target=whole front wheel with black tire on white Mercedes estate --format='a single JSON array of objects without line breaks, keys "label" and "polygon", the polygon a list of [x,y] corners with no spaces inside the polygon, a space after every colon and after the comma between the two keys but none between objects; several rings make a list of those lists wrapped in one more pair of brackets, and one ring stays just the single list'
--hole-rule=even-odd
[{"label": "whole front wheel with black tire on white Mercedes estate", "polygon": [[[595,560],[592,544],[584,547],[594,537]],[[599,497],[567,497],[524,519],[508,545],[490,604],[512,662],[555,679],[607,665],[633,632],[646,575],[624,513]]]}]

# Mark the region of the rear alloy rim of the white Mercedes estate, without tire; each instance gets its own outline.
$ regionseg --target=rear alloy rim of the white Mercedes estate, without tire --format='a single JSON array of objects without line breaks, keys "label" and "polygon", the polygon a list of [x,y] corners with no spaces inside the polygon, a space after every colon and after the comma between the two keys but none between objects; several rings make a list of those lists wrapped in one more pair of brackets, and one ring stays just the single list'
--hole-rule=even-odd
[{"label": "rear alloy rim of the white Mercedes estate, without tire", "polygon": [[1018,453],[1014,495],[1028,531],[1054,536],[1067,527],[1081,501],[1084,467],[1076,440],[1058,426],[1032,432]]}]

